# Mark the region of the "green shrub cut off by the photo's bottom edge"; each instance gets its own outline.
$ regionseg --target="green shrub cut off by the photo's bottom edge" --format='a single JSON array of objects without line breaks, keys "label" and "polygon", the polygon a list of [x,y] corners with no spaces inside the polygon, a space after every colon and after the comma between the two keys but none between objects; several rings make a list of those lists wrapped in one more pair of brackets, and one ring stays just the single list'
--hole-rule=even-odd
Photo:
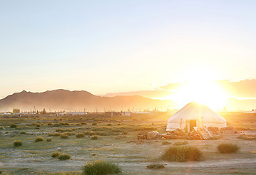
[{"label": "green shrub cut off by the photo's bottom edge", "polygon": [[87,162],[83,167],[83,174],[85,175],[104,175],[104,174],[121,174],[121,168],[115,163],[108,163],[105,161]]}]

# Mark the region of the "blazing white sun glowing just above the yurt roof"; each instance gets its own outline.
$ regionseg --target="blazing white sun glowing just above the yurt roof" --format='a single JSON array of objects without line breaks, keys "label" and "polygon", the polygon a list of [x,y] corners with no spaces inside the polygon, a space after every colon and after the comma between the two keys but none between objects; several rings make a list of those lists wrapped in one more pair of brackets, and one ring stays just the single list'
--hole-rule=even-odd
[{"label": "blazing white sun glowing just above the yurt roof", "polygon": [[219,110],[226,104],[227,93],[217,82],[198,80],[185,82],[170,99],[176,101],[178,106],[194,101]]}]

